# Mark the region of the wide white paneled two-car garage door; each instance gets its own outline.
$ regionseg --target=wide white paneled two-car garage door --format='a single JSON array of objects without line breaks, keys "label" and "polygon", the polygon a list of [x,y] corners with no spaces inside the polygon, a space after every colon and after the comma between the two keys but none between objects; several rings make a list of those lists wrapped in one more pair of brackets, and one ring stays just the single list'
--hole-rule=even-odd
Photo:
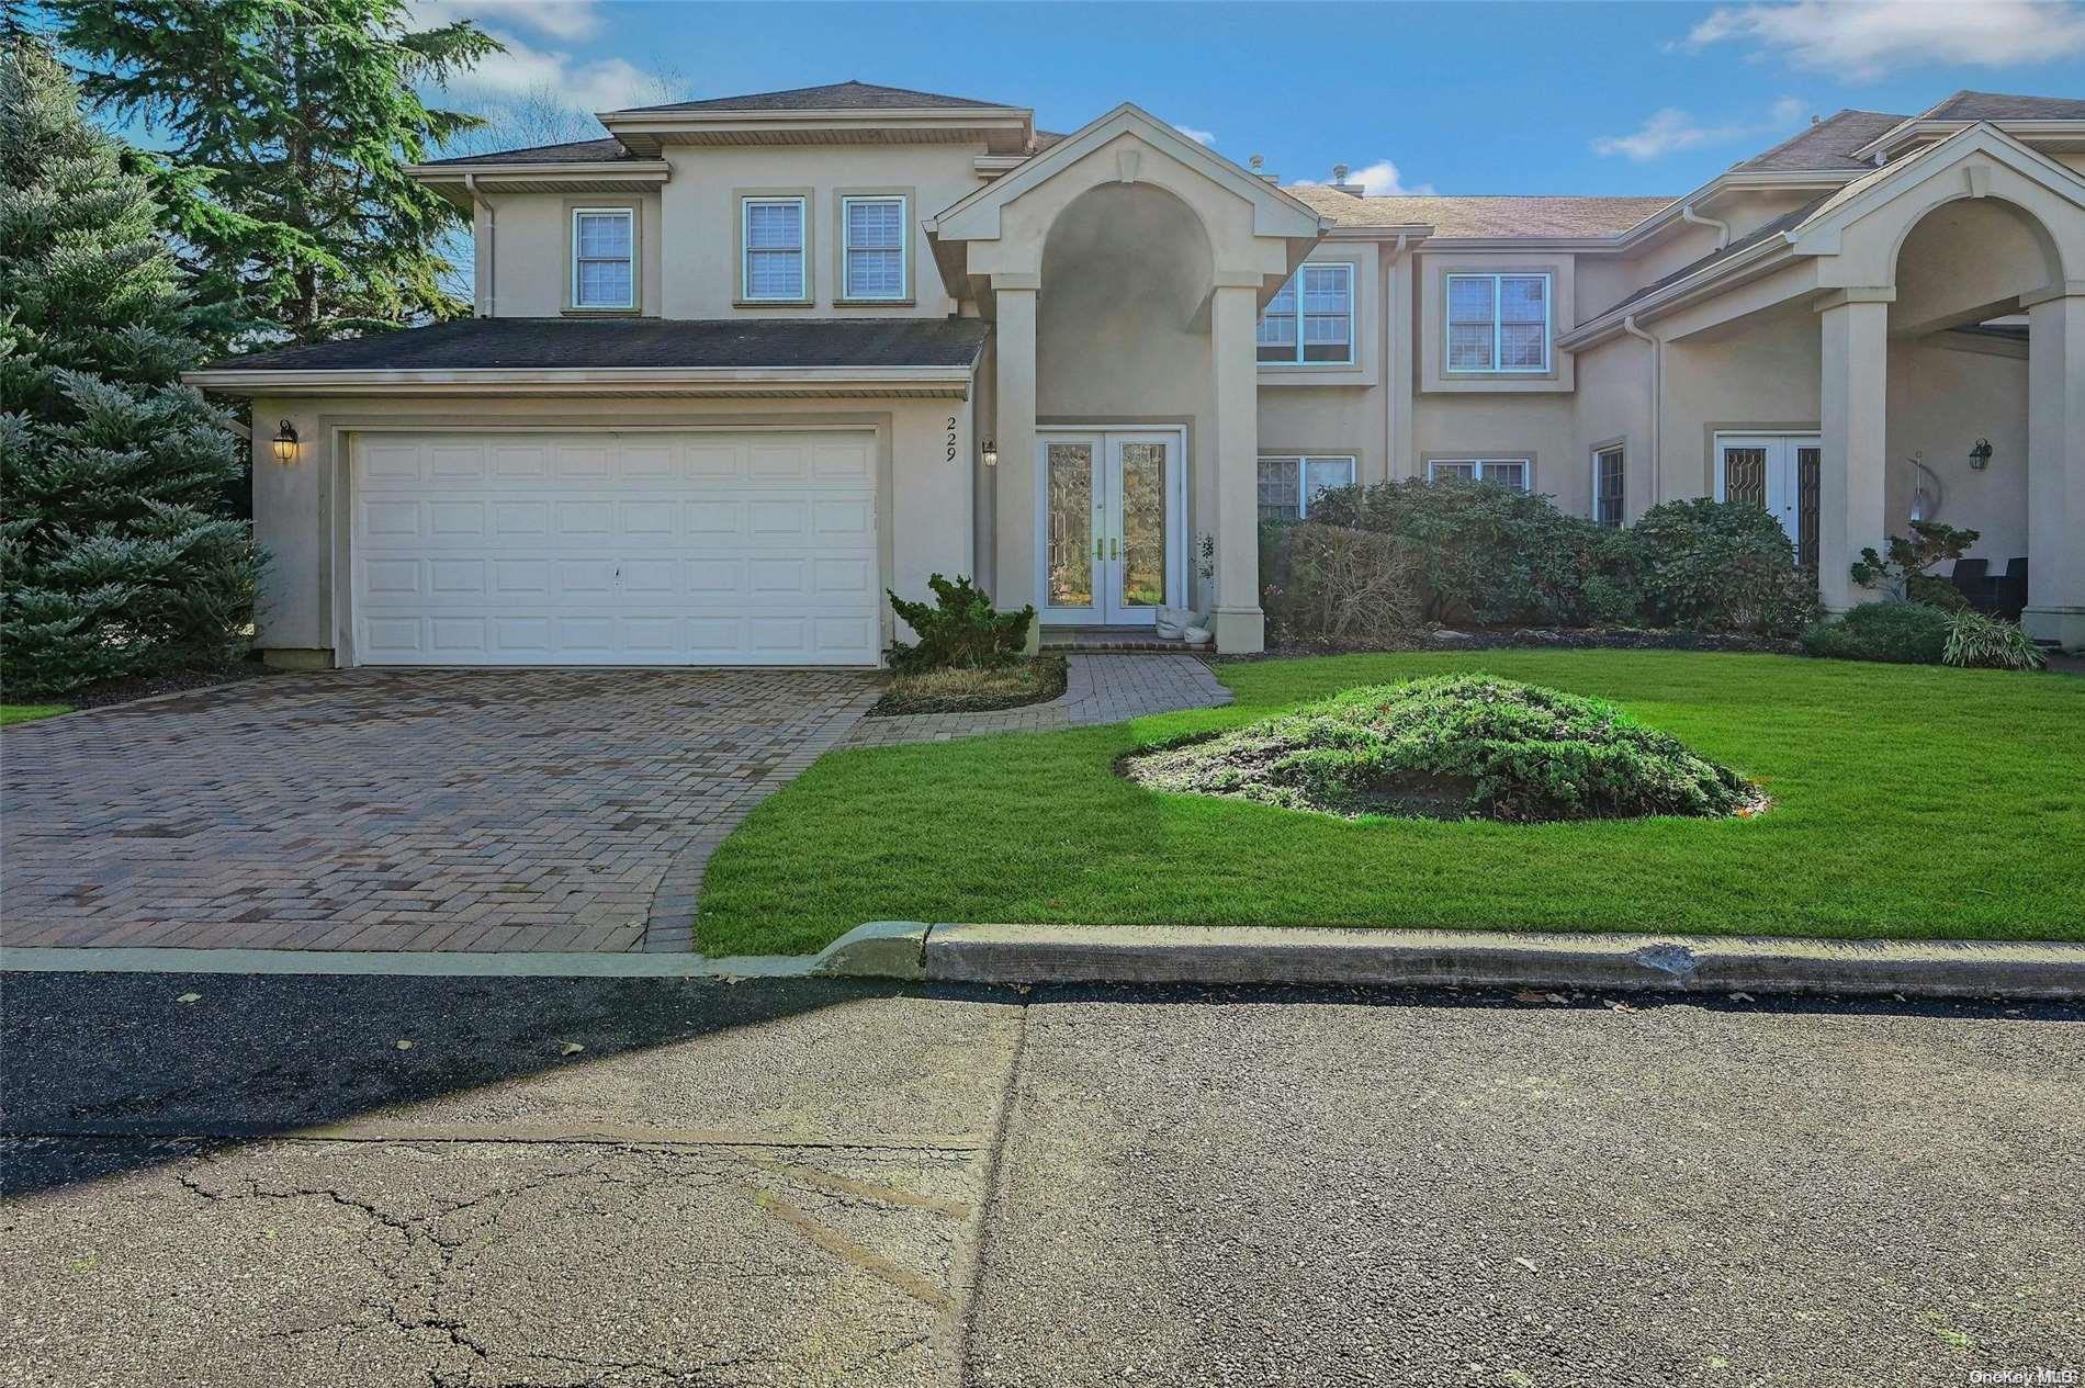
[{"label": "wide white paneled two-car garage door", "polygon": [[365,665],[874,665],[861,431],[359,433]]}]

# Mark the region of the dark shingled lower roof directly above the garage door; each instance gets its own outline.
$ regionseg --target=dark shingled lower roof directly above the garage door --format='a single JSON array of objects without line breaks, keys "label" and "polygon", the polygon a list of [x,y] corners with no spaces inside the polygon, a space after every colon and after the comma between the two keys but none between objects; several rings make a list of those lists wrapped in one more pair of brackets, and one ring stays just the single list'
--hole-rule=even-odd
[{"label": "dark shingled lower roof directly above the garage door", "polygon": [[982,319],[457,319],[250,352],[204,371],[967,367]]}]

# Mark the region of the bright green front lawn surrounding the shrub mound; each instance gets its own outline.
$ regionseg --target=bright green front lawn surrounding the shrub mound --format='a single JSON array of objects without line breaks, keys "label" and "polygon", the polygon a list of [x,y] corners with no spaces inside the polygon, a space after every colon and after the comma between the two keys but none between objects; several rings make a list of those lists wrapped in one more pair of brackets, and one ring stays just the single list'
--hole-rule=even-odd
[{"label": "bright green front lawn surrounding the shrub mound", "polygon": [[[1480,669],[1614,698],[1758,819],[1501,825],[1157,794],[1122,752]],[[824,757],[709,863],[709,955],[861,921],[1453,925],[2085,940],[2085,679],[1799,656],[1495,650],[1218,665],[1230,709]]]}]

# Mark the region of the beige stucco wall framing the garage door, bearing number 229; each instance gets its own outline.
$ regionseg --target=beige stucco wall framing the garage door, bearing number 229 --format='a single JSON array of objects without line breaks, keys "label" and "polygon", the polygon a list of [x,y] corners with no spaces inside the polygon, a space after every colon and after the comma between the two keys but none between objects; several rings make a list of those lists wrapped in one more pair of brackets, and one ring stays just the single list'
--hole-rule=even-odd
[{"label": "beige stucco wall framing the garage door, bearing number 229", "polygon": [[[924,598],[930,573],[972,573],[976,431],[970,400],[523,400],[523,398],[256,398],[254,419],[288,419],[304,440],[292,465],[254,442],[254,534],[269,552],[261,592],[263,650],[334,648],[334,590],[346,584],[344,458],[354,427],[613,427],[619,423],[736,427],[859,423],[884,440],[878,540],[884,586]],[[955,463],[949,431],[955,421]],[[342,448],[344,452],[344,448]],[[882,479],[888,479],[884,486]],[[886,631],[888,631],[886,613]]]}]

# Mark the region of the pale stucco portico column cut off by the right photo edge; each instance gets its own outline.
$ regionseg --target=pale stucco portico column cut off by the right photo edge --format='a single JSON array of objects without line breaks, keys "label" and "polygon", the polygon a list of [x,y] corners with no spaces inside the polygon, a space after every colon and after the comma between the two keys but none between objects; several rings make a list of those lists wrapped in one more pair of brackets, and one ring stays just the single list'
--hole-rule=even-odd
[{"label": "pale stucco portico column cut off by the right photo edge", "polygon": [[[2027,611],[2029,636],[2085,646],[2085,281],[2027,306]],[[2006,463],[1993,461],[1991,467]]]}]

